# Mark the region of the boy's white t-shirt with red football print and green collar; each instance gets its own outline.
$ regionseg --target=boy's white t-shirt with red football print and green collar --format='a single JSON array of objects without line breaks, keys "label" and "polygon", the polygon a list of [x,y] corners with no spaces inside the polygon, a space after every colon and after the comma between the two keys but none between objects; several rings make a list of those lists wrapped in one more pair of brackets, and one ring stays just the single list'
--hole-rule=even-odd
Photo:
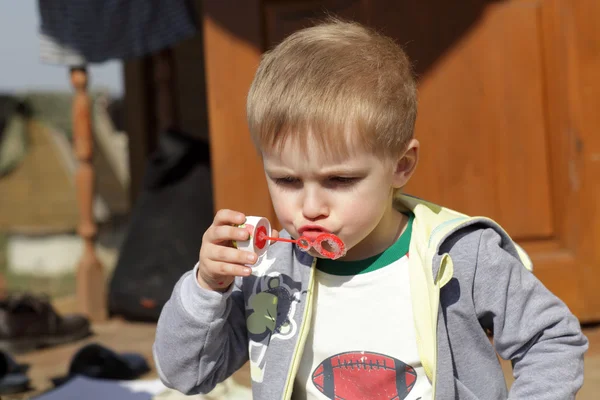
[{"label": "boy's white t-shirt with red football print and green collar", "polygon": [[[417,351],[408,279],[411,227],[412,218],[400,239],[379,256],[322,263],[327,268],[317,264],[316,306],[294,399],[431,399]],[[333,274],[353,268],[361,273]]]}]

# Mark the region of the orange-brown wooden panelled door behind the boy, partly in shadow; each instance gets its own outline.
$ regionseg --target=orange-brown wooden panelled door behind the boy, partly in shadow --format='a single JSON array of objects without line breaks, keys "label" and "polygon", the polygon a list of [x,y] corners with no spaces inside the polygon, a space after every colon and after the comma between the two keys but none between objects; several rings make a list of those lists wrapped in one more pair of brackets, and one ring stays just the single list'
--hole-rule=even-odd
[{"label": "orange-brown wooden panelled door behind the boy, partly in shadow", "polygon": [[[228,25],[225,3],[205,1],[217,207],[243,210],[250,197],[273,217],[262,183],[243,198],[231,186],[240,174],[264,182],[258,157],[236,153],[244,168],[231,172],[226,144],[249,146],[241,115],[260,52],[327,9],[394,37],[415,62],[422,157],[407,191],[494,218],[573,312],[600,318],[600,2],[252,2],[251,40]],[[227,71],[243,73],[232,85],[223,68],[234,61]]]}]

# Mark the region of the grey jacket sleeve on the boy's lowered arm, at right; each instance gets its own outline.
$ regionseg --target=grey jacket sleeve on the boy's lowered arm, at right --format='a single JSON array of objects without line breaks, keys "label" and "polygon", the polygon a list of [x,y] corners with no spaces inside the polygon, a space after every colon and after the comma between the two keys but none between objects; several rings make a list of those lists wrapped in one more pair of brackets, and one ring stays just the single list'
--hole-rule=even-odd
[{"label": "grey jacket sleeve on the boy's lowered arm, at right", "polygon": [[[514,369],[510,399],[574,399],[583,384],[587,339],[579,321],[513,255],[492,229],[482,233],[473,299]],[[569,271],[565,271],[569,273]]]}]

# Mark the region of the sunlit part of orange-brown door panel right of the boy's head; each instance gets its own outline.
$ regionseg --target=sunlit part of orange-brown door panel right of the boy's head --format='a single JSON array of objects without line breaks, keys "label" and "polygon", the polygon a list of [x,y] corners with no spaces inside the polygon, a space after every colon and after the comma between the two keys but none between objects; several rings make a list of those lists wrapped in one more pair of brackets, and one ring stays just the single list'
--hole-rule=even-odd
[{"label": "sunlit part of orange-brown door panel right of the boy's head", "polygon": [[420,77],[422,156],[407,188],[518,240],[554,233],[538,11],[488,6]]}]

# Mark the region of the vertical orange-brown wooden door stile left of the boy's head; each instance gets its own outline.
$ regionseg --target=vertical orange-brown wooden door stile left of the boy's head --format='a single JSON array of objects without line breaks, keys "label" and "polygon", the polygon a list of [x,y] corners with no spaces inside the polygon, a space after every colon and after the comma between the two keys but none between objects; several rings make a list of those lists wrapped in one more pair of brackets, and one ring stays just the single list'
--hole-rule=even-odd
[{"label": "vertical orange-brown wooden door stile left of the boy's head", "polygon": [[277,221],[246,121],[246,96],[263,52],[264,3],[202,2],[204,65],[214,208]]}]

